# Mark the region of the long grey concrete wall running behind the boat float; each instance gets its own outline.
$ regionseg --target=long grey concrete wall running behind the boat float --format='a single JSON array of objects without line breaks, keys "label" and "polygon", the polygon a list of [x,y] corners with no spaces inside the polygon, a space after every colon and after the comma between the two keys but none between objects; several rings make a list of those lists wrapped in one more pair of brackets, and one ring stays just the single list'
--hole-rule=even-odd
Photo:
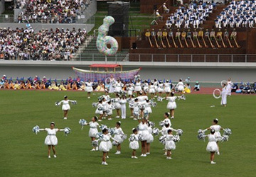
[{"label": "long grey concrete wall running behind the boat float", "polygon": [[[33,64],[21,64],[21,65],[10,65],[3,64],[0,61],[0,76],[6,74],[8,77],[13,78],[21,76],[47,76],[53,79],[66,79],[68,76],[75,76],[72,66],[81,69],[89,69],[88,64],[41,64],[37,65],[36,61]],[[96,62],[95,62],[96,63]],[[191,77],[191,81],[211,81],[219,82],[223,79],[232,77],[233,81],[256,81],[255,67],[143,67],[141,65],[129,66],[125,65],[124,71],[129,69],[137,69],[142,67],[140,75],[142,79],[171,79],[177,81],[179,78],[186,79],[188,76]]]}]

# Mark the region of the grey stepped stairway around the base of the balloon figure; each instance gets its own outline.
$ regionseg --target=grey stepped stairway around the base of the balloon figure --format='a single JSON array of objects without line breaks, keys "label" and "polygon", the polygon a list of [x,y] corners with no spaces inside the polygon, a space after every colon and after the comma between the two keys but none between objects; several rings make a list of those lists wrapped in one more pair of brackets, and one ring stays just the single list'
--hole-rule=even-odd
[{"label": "grey stepped stairway around the base of the balloon figure", "polygon": [[[96,40],[97,38],[94,37],[92,40],[89,42],[89,44],[86,46],[84,45],[83,48],[81,49],[80,53],[76,56],[76,60],[80,61],[105,61],[105,56],[102,55],[96,47]],[[122,50],[121,52],[117,52],[117,55],[107,57],[107,61],[125,61],[128,57],[128,52],[129,50]]]}]

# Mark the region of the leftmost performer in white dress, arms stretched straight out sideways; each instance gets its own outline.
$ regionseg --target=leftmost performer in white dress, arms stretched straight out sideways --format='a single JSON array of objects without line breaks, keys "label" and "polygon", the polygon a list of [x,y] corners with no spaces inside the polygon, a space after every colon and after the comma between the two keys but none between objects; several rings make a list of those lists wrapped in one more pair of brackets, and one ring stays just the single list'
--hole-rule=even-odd
[{"label": "leftmost performer in white dress, arms stretched straight out sideways", "polygon": [[64,129],[55,128],[55,123],[50,122],[50,128],[39,129],[40,131],[46,131],[47,137],[45,139],[45,144],[48,145],[48,158],[50,159],[50,148],[53,149],[53,156],[56,158],[55,146],[58,144],[58,139],[56,137],[56,132],[63,132]]}]

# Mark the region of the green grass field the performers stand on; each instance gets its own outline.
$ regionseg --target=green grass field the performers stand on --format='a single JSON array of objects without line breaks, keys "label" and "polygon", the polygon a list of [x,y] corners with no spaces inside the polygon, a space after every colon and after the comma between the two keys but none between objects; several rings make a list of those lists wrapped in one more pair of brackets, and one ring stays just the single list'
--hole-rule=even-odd
[{"label": "green grass field the performers stand on", "polygon": [[[68,120],[63,120],[63,111],[54,105],[64,95],[78,101],[78,105],[71,105]],[[0,176],[255,176],[255,96],[231,96],[228,107],[223,108],[211,95],[187,95],[186,101],[177,101],[176,118],[172,120],[173,127],[184,132],[172,160],[166,160],[158,137],[151,144],[149,156],[131,159],[126,139],[122,154],[115,155],[113,147],[108,166],[101,165],[101,152],[90,152],[89,127],[81,130],[78,124],[80,118],[90,120],[94,115],[92,101],[98,96],[96,93],[88,100],[85,92],[1,90]],[[152,108],[150,120],[157,126],[167,111],[166,104],[163,101]],[[233,131],[229,142],[220,144],[215,165],[210,164],[207,142],[196,138],[197,130],[208,127],[213,118]],[[35,125],[49,127],[51,121],[56,127],[72,130],[68,136],[58,132],[57,159],[48,159],[46,132],[36,135],[31,131]],[[102,123],[114,127],[115,122],[117,119]],[[129,137],[137,124],[127,118],[122,120],[122,129]]]}]

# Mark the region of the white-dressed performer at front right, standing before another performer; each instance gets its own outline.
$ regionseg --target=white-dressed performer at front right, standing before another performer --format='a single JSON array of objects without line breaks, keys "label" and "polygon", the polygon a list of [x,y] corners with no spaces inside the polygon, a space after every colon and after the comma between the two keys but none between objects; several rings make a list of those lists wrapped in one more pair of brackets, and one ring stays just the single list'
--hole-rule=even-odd
[{"label": "white-dressed performer at front right, standing before another performer", "polygon": [[210,164],[216,164],[216,162],[214,162],[214,155],[215,152],[218,152],[218,145],[217,145],[217,139],[215,138],[215,130],[211,129],[210,130],[210,134],[206,135],[206,137],[208,137],[208,144],[206,147],[206,151],[210,152]]}]

